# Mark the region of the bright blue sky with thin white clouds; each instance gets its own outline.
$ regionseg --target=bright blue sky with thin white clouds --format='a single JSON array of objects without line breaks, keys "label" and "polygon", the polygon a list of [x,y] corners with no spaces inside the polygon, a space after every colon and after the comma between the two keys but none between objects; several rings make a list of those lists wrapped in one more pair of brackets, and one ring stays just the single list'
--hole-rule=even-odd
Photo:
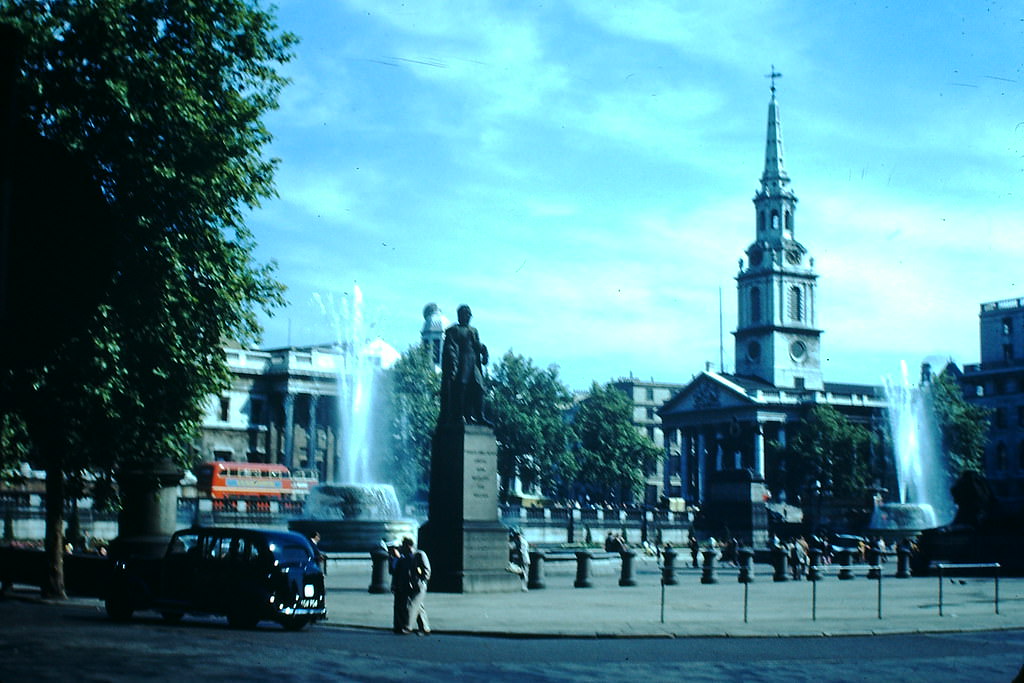
[{"label": "bright blue sky with thin white clouds", "polygon": [[773,66],[826,381],[977,362],[979,305],[1024,297],[1019,2],[276,4],[264,347],[333,341],[357,287],[399,351],[467,303],[571,389],[732,372]]}]

